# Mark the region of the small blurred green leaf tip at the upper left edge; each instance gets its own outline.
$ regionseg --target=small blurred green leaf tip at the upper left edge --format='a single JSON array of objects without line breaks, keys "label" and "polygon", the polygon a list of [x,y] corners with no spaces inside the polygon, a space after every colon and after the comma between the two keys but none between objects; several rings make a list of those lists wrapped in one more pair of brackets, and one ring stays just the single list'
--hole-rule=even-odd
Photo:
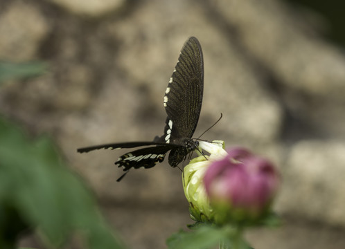
[{"label": "small blurred green leaf tip at the upper left edge", "polygon": [[46,71],[47,65],[43,62],[1,62],[0,83],[17,78],[35,77]]}]

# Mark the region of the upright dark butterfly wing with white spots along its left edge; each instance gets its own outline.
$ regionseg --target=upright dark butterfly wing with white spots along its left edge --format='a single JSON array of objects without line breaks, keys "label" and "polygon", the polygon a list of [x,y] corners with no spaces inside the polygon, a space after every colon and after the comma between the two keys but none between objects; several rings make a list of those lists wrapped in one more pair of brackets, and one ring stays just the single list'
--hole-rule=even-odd
[{"label": "upright dark butterfly wing with white spots along its left edge", "polygon": [[161,141],[176,142],[177,138],[191,138],[197,127],[204,91],[204,62],[202,48],[195,37],[182,47],[179,60],[172,73],[164,107],[168,118]]}]

